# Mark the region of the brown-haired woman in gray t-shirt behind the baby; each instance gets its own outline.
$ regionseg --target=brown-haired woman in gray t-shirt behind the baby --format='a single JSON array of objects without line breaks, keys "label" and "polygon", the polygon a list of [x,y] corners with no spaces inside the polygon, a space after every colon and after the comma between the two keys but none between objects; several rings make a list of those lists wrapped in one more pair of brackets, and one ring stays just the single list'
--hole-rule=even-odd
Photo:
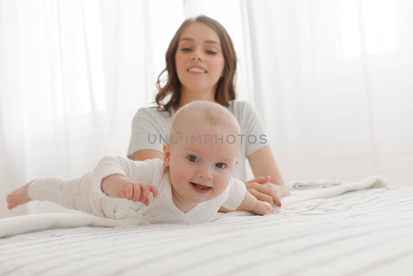
[{"label": "brown-haired woman in gray t-shirt behind the baby", "polygon": [[[249,135],[260,137],[264,134],[263,123],[249,103],[235,101],[237,58],[224,27],[204,15],[185,20],[172,38],[165,58],[166,68],[157,82],[157,108],[140,108],[133,118],[128,157],[162,159],[162,138],[169,133],[176,110],[195,100],[216,101],[235,115],[242,134],[246,135],[233,177],[244,181],[247,190],[261,201],[273,204],[289,195],[270,146],[261,144],[263,140],[261,143],[260,140],[246,141]],[[168,77],[161,87],[164,72]],[[254,175],[259,176],[249,181],[245,181],[246,157]],[[229,210],[221,207],[220,211]]]}]

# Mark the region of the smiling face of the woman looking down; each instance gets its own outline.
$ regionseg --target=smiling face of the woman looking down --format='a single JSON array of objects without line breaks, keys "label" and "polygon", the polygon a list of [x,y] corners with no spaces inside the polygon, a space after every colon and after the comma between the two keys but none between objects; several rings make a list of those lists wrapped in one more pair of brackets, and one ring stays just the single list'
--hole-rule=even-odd
[{"label": "smiling face of the woman looking down", "polygon": [[175,54],[176,72],[183,90],[215,94],[224,62],[219,37],[208,25],[194,22],[183,30]]}]

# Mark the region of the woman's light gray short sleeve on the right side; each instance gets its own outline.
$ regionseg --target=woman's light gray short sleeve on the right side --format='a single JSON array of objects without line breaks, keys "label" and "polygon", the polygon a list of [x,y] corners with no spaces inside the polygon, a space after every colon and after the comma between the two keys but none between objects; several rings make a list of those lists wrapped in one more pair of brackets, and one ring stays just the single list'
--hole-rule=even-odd
[{"label": "woman's light gray short sleeve on the right side", "polygon": [[268,138],[264,129],[264,123],[255,108],[247,102],[243,103],[242,125],[245,137],[243,143],[246,144],[246,156],[258,151],[268,145]]}]

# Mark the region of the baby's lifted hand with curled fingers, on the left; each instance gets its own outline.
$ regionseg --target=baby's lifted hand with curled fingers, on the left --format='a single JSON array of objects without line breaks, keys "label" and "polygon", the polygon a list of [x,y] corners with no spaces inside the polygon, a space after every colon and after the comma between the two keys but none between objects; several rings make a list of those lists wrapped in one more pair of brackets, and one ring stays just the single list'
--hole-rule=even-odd
[{"label": "baby's lifted hand with curled fingers, on the left", "polygon": [[158,197],[158,190],[154,185],[145,184],[139,181],[125,181],[118,188],[118,194],[132,201],[139,201],[149,205],[149,193],[152,192],[154,198]]}]

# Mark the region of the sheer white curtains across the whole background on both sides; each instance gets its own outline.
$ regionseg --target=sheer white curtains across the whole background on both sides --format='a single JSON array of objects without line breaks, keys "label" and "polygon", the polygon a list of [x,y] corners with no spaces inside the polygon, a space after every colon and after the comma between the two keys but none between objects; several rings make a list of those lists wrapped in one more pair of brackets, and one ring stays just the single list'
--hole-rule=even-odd
[{"label": "sheer white curtains across the whole background on both sides", "polygon": [[[0,0],[0,197],[125,156],[186,17],[233,38],[238,98],[261,114],[286,182],[413,178],[408,0]],[[31,202],[17,214],[62,211]]]}]

